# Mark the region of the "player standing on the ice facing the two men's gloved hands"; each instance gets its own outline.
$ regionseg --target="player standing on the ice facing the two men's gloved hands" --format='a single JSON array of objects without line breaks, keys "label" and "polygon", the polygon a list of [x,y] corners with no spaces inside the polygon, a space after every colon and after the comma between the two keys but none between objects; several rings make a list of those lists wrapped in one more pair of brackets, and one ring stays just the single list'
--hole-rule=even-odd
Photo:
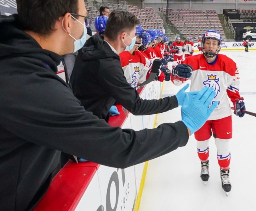
[{"label": "player standing on the ice facing the two men's gloved hands", "polygon": [[216,96],[213,102],[218,102],[218,106],[208,121],[195,132],[197,152],[201,161],[201,179],[206,182],[209,179],[209,140],[213,134],[222,188],[225,192],[229,192],[231,190],[229,142],[232,138],[232,119],[227,97],[234,104],[234,113],[239,117],[244,116],[242,109],[245,110],[245,106],[244,98],[239,94],[240,78],[236,63],[227,56],[218,54],[221,39],[220,33],[216,30],[207,30],[202,36],[203,54],[188,57],[182,61],[184,64],[174,67],[172,81],[174,84],[180,84],[189,78],[190,91],[200,90],[204,86],[214,88]]}]

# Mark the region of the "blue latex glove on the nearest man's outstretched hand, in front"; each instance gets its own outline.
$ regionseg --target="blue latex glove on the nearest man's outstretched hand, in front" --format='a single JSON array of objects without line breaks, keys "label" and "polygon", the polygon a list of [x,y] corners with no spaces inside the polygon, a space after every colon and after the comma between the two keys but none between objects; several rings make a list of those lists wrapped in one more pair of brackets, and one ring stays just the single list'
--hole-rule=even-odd
[{"label": "blue latex glove on the nearest man's outstretched hand, in front", "polygon": [[181,107],[181,121],[190,129],[191,134],[204,125],[212,111],[218,105],[218,102],[215,101],[209,107],[215,94],[212,87],[205,87],[193,98],[189,98],[188,95],[185,96]]}]

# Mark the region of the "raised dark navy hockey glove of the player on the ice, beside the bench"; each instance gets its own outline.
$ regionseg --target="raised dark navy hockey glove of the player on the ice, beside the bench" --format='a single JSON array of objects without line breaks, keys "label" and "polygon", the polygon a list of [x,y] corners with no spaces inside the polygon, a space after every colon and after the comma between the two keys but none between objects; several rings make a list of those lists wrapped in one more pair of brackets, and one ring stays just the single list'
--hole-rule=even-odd
[{"label": "raised dark navy hockey glove of the player on the ice, beside the bench", "polygon": [[192,66],[188,64],[178,64],[172,69],[172,77],[177,80],[185,79],[186,81],[191,77],[192,71]]}]

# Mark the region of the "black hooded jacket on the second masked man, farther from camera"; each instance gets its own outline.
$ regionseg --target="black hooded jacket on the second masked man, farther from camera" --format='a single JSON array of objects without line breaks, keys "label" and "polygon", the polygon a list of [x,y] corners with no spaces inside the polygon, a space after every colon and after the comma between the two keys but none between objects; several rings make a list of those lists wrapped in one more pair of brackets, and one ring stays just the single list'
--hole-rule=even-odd
[{"label": "black hooded jacket on the second masked man, farther from camera", "polygon": [[70,81],[81,105],[106,121],[115,101],[134,115],[161,113],[178,107],[176,96],[142,100],[128,84],[119,55],[98,34],[89,38],[79,51]]}]

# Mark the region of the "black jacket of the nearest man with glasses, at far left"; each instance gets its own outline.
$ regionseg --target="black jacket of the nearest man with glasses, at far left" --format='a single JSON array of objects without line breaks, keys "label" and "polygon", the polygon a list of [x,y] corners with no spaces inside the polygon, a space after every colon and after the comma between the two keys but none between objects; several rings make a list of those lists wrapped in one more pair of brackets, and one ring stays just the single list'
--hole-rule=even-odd
[{"label": "black jacket of the nearest man with glasses, at far left", "polygon": [[188,141],[181,121],[122,130],[86,112],[56,75],[60,59],[20,30],[15,15],[0,16],[1,211],[32,209],[48,189],[61,151],[125,168]]}]

